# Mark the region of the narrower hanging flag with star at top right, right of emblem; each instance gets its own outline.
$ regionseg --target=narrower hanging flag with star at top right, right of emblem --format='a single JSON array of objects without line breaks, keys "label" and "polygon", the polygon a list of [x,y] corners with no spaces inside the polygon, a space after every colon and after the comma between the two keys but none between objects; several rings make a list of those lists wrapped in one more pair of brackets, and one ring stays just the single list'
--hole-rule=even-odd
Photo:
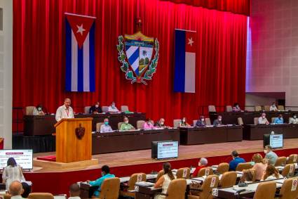
[{"label": "narrower hanging flag with star at top right, right of emblem", "polygon": [[174,91],[196,92],[196,32],[175,30]]}]

